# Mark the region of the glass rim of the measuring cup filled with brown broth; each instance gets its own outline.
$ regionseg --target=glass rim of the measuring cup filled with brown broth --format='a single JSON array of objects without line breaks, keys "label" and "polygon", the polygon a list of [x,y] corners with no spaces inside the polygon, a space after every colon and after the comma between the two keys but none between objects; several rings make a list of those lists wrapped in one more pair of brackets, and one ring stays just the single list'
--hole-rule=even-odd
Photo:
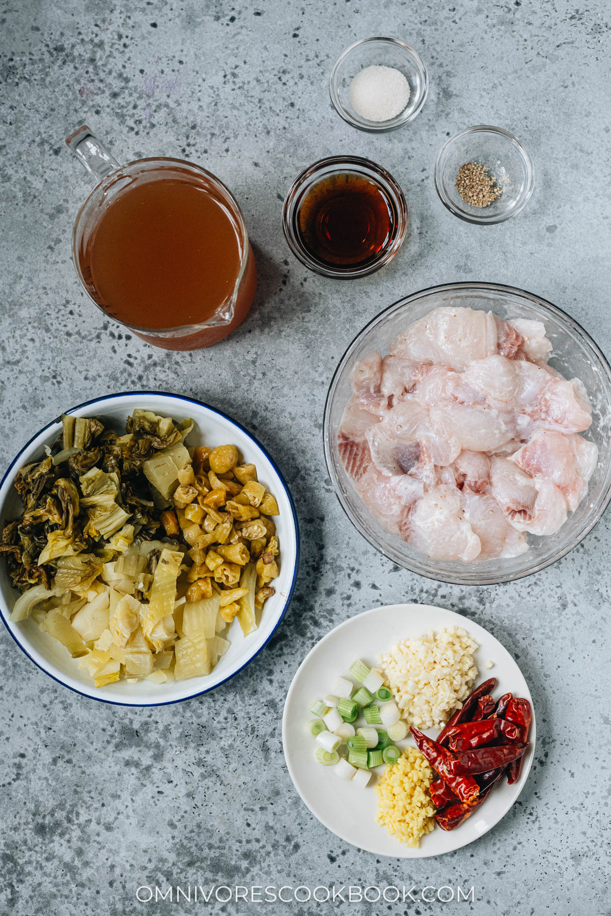
[{"label": "glass rim of the measuring cup filled with brown broth", "polygon": [[188,159],[177,159],[177,158],[168,157],[168,156],[152,156],[152,157],[147,157],[143,159],[133,159],[131,162],[125,162],[125,164],[120,165],[118,169],[114,169],[112,172],[109,172],[108,175],[104,176],[104,179],[102,181],[99,181],[95,185],[95,187],[92,188],[92,190],[89,192],[89,194],[85,198],[79,212],[76,214],[76,219],[74,220],[74,225],[72,227],[72,241],[71,241],[72,263],[74,265],[74,271],[76,273],[76,276],[79,278],[79,282],[81,283],[82,289],[86,293],[86,295],[89,297],[89,299],[93,302],[93,305],[95,306],[95,308],[99,309],[106,316],[106,318],[111,319],[113,322],[117,322],[117,324],[123,325],[123,327],[127,328],[129,331],[136,331],[136,332],[140,332],[143,334],[147,334],[147,336],[149,337],[166,337],[166,338],[188,337],[192,333],[197,333],[198,331],[201,331],[202,328],[212,327],[212,326],[224,327],[227,324],[231,324],[231,322],[233,321],[233,317],[230,317],[222,322],[217,322],[214,325],[212,325],[210,322],[197,322],[195,324],[181,324],[173,328],[142,328],[137,324],[129,324],[128,322],[122,321],[120,318],[115,318],[115,315],[111,315],[108,311],[104,309],[104,306],[100,305],[99,302],[96,302],[93,299],[93,296],[91,295],[89,289],[87,289],[87,285],[85,283],[84,278],[82,277],[82,272],[81,272],[81,267],[80,267],[80,261],[79,261],[79,256],[78,256],[79,240],[77,236],[78,236],[78,231],[80,229],[82,220],[86,219],[87,211],[90,206],[90,203],[93,203],[94,195],[99,194],[100,192],[104,192],[104,188],[106,186],[108,187],[112,186],[112,183],[115,180],[117,180],[121,172],[127,173],[128,169],[132,169],[135,166],[142,167],[142,166],[147,166],[149,164],[154,164],[154,163],[160,163],[161,165],[170,164],[170,165],[180,166],[183,168],[188,167],[189,169],[192,169],[192,171],[196,172],[198,175],[202,175],[204,178],[209,180],[213,186],[216,186],[216,188],[219,191],[221,191],[223,194],[227,196],[229,201],[234,206],[235,213],[233,215],[235,216],[235,222],[240,232],[240,244],[242,245],[242,258],[240,261],[240,272],[235,280],[234,289],[232,293],[230,294],[230,296],[227,297],[227,300],[225,300],[225,302],[235,300],[235,297],[237,295],[238,290],[240,289],[240,285],[245,275],[245,269],[248,263],[248,252],[249,252],[248,233],[246,231],[244,215],[242,211],[240,210],[240,205],[235,200],[234,195],[229,190],[229,188],[224,184],[224,182],[218,179],[216,175],[213,175],[212,172],[208,171],[208,169],[204,169],[202,166],[199,166],[196,162],[190,162]]}]

